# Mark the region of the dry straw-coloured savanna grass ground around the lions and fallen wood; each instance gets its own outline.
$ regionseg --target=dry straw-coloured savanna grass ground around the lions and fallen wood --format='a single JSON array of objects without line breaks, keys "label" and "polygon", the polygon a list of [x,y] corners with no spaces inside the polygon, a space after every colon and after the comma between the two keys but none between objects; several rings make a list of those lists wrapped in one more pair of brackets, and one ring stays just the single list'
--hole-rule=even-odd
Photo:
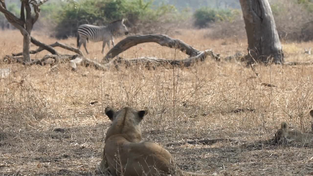
[{"label": "dry straw-coloured savanna grass ground around the lions and fallen wood", "polygon": [[[170,37],[198,50],[213,49],[222,57],[246,51],[246,39],[211,40],[203,37],[206,32],[180,30]],[[47,44],[56,41],[33,35]],[[0,41],[1,59],[22,51],[18,31],[1,31]],[[75,38],[60,42],[76,45]],[[304,54],[313,43],[282,44],[287,61],[313,59]],[[102,59],[101,45],[87,44],[90,59]],[[139,44],[120,56],[187,57],[155,43]],[[156,70],[137,65],[109,71],[79,66],[72,71],[69,64],[52,69],[4,63],[0,68],[13,70],[0,80],[0,175],[96,175],[95,164],[101,160],[111,124],[104,115],[106,106],[148,108],[141,123],[143,140],[167,148],[186,171],[225,176],[313,174],[310,146],[264,142],[274,137],[282,121],[303,132],[310,130],[312,66],[257,66],[256,76],[243,63],[208,57],[190,68]],[[231,140],[186,143],[212,138]],[[173,142],[184,143],[166,145]]]}]

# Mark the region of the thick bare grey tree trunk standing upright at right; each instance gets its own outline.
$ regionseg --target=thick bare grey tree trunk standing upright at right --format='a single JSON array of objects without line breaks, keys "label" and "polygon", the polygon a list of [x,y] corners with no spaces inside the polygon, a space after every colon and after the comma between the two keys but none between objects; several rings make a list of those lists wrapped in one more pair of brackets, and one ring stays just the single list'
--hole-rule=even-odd
[{"label": "thick bare grey tree trunk standing upright at right", "polygon": [[[239,0],[248,38],[248,58],[284,63],[284,53],[268,0]],[[252,58],[251,58],[252,57]]]}]

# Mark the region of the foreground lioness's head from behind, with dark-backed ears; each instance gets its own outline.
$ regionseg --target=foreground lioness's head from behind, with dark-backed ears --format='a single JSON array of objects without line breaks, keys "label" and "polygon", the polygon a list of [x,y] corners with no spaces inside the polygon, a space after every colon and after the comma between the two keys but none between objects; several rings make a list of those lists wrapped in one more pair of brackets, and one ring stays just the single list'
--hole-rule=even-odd
[{"label": "foreground lioness's head from behind, with dark-backed ears", "polygon": [[131,107],[123,107],[118,111],[106,107],[105,114],[112,121],[112,125],[106,132],[105,141],[112,135],[121,134],[130,142],[140,142],[140,122],[147,113],[147,110],[137,111]]}]

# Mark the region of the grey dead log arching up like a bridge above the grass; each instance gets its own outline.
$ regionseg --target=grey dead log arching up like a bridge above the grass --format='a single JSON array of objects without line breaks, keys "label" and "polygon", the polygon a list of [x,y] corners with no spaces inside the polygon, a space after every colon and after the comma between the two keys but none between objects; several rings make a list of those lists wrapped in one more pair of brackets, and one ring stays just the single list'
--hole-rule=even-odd
[{"label": "grey dead log arching up like a bridge above the grass", "polygon": [[[186,44],[180,39],[172,39],[168,37],[167,35],[163,34],[147,34],[147,35],[133,35],[126,37],[125,39],[121,40],[118,44],[116,44],[110,51],[104,56],[102,59],[102,62],[108,62],[110,59],[114,58],[121,52],[141,43],[147,43],[147,42],[154,42],[158,43],[161,46],[167,46],[170,48],[176,48],[181,50],[182,52],[185,52],[190,57],[197,57],[200,54],[203,54],[205,51],[199,51],[197,49],[194,49],[192,46]],[[210,50],[212,53],[211,55],[214,56],[214,59],[219,60],[219,54],[214,54],[212,50]],[[205,58],[204,58],[205,59]],[[203,60],[204,60],[203,59]],[[191,59],[192,60],[192,59]],[[170,63],[174,63],[173,60],[164,60]],[[161,62],[162,62],[161,61]],[[143,61],[146,62],[146,61]],[[189,61],[191,62],[191,61]],[[175,64],[176,65],[176,64]]]}]

